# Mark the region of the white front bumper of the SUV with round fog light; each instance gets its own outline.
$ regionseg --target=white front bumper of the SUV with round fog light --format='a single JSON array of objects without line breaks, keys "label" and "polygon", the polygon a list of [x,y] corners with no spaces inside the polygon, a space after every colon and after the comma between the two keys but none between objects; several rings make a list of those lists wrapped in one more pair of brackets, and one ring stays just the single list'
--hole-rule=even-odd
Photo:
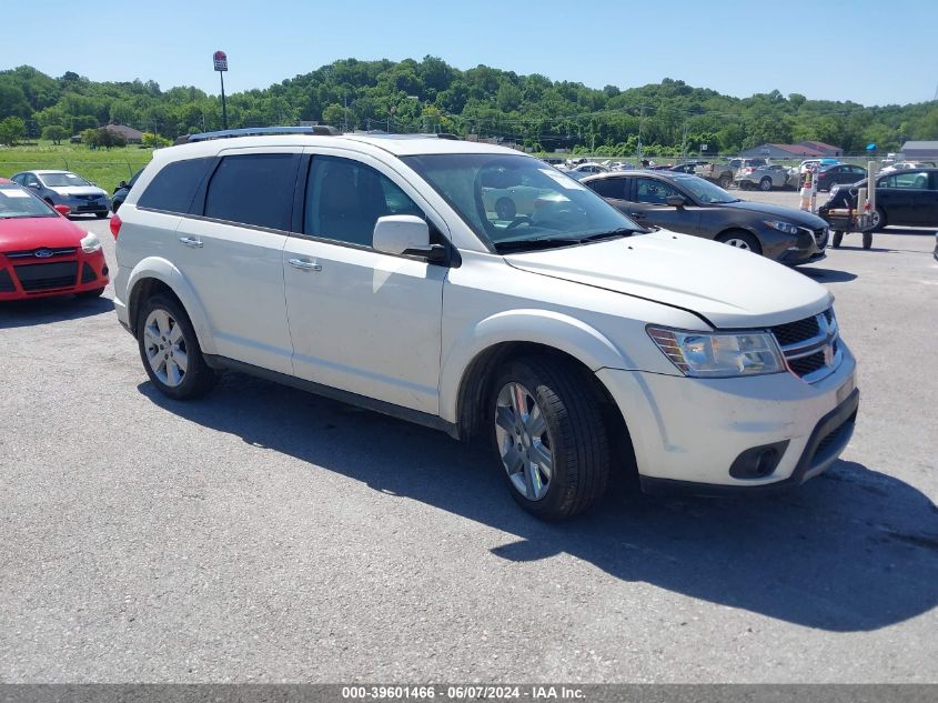
[{"label": "white front bumper of the SUV with round fog light", "polygon": [[[622,410],[644,486],[778,488],[823,472],[850,439],[859,394],[856,362],[846,345],[843,351],[840,366],[814,384],[788,372],[692,379],[601,369],[597,375]],[[745,452],[781,444],[770,473],[730,475]]]}]

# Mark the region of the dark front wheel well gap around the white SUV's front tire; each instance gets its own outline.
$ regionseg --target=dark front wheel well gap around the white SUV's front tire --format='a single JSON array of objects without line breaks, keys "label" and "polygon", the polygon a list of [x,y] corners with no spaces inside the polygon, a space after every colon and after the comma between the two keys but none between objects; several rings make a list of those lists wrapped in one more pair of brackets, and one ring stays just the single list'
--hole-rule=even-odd
[{"label": "dark front wheel well gap around the white SUV's front tire", "polygon": [[522,358],[546,359],[567,364],[581,372],[587,392],[601,406],[606,432],[609,438],[613,466],[621,466],[623,474],[631,481],[637,478],[635,450],[632,436],[622,411],[613,400],[608,389],[596,378],[589,366],[575,356],[535,342],[503,342],[490,347],[472,360],[463,375],[456,400],[456,423],[458,435],[464,441],[484,440],[487,425],[487,408],[492,402],[492,383],[498,369],[506,363]]}]

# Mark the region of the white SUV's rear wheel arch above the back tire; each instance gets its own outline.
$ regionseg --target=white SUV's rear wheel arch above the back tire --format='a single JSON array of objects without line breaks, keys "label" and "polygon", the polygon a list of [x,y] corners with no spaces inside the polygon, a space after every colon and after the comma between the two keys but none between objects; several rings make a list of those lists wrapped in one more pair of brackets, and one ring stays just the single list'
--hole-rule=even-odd
[{"label": "white SUV's rear wheel arch above the back tire", "polygon": [[189,315],[199,345],[206,354],[214,354],[215,347],[209,325],[209,318],[195,290],[182,272],[165,259],[143,259],[134,267],[128,280],[128,320],[130,330],[137,335],[138,317],[143,301],[155,294],[173,297]]}]

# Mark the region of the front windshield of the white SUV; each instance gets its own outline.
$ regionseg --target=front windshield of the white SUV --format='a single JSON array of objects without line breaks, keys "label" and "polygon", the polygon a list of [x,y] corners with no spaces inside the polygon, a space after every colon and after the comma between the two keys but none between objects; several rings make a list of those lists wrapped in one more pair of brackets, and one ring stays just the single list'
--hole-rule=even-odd
[{"label": "front windshield of the white SUV", "polygon": [[461,153],[403,160],[496,251],[644,231],[592,190],[537,159]]}]

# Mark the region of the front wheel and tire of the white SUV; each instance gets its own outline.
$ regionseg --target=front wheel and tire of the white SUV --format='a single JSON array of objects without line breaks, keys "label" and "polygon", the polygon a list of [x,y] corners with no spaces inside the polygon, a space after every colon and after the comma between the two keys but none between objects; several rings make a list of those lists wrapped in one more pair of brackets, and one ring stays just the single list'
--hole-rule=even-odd
[{"label": "front wheel and tire of the white SUV", "polygon": [[581,513],[606,490],[609,441],[592,383],[572,364],[527,358],[492,385],[492,442],[508,491],[542,520]]}]

